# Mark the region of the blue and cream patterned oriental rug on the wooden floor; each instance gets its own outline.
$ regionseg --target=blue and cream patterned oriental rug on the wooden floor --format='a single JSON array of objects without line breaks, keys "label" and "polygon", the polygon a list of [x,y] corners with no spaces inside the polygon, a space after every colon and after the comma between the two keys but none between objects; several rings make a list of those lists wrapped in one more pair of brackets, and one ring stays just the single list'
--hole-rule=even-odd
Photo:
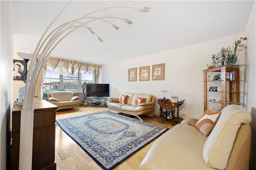
[{"label": "blue and cream patterned oriental rug on the wooden floor", "polygon": [[168,130],[107,111],[60,119],[56,123],[106,170],[114,168]]}]

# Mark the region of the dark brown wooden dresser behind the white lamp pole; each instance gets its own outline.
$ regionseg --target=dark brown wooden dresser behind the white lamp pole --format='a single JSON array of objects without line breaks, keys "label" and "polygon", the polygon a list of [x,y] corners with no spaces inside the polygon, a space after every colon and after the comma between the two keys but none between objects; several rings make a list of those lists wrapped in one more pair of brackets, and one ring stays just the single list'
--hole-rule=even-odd
[{"label": "dark brown wooden dresser behind the white lamp pole", "polygon": [[[58,107],[45,100],[34,101],[34,130],[32,169],[56,170],[55,111]],[[12,170],[19,169],[20,112],[22,106],[12,109]]]}]

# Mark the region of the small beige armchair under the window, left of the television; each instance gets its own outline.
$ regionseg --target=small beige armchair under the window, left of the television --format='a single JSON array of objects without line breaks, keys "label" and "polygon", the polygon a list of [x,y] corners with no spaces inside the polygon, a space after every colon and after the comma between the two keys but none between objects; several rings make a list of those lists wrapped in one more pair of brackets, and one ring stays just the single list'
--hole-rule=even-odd
[{"label": "small beige armchair under the window, left of the television", "polygon": [[72,91],[52,91],[51,94],[47,94],[47,98],[48,102],[58,106],[56,111],[60,109],[76,108],[80,103],[80,98],[74,96]]}]

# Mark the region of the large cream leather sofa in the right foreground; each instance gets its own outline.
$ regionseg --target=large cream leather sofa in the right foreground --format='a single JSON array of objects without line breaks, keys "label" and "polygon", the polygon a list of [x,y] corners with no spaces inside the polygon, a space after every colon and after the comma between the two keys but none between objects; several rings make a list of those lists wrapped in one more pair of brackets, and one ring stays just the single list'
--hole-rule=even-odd
[{"label": "large cream leather sofa in the right foreground", "polygon": [[249,169],[250,113],[228,105],[208,137],[182,121],[154,142],[140,164],[141,170]]}]

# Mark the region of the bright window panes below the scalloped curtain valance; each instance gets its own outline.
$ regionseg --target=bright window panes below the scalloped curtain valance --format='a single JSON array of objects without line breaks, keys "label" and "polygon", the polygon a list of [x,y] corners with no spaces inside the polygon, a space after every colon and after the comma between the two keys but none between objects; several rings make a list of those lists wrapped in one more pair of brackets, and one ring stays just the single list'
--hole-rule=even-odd
[{"label": "bright window panes below the scalloped curtain valance", "polygon": [[44,91],[59,91],[64,89],[67,91],[81,91],[81,82],[93,83],[93,73],[86,72],[85,74],[78,73],[71,75],[66,73],[58,75],[54,71],[46,71],[44,79]]}]

